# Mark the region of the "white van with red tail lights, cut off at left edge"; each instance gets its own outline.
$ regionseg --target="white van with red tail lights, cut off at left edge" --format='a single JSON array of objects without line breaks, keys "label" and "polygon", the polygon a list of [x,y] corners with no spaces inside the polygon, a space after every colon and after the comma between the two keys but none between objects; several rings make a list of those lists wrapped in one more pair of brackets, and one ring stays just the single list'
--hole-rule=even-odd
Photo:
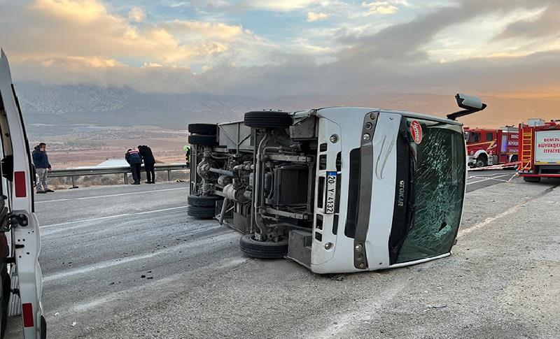
[{"label": "white van with red tail lights, cut off at left edge", "polygon": [[41,306],[43,282],[37,258],[41,247],[34,213],[29,144],[15,95],[8,58],[0,50],[0,319],[22,315],[25,339],[46,338]]}]

